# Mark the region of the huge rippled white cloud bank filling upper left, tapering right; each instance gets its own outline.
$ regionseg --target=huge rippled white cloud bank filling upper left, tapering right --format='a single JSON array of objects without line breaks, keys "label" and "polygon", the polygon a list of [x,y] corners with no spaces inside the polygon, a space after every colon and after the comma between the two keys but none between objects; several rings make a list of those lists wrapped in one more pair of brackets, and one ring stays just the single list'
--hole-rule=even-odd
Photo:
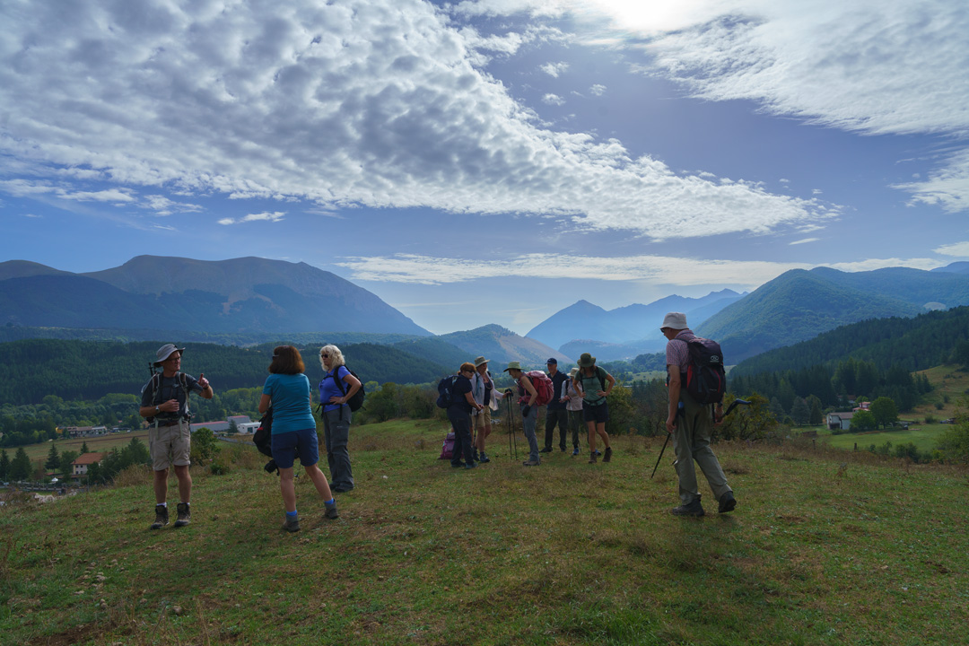
[{"label": "huge rippled white cloud bank filling upper left, tapering right", "polygon": [[[473,13],[460,3],[454,15],[460,7]],[[420,0],[9,0],[0,153],[38,176],[104,177],[117,200],[164,186],[322,208],[556,217],[655,238],[837,214],[756,184],[684,176],[617,140],[549,130],[476,66],[485,41]]]}]

